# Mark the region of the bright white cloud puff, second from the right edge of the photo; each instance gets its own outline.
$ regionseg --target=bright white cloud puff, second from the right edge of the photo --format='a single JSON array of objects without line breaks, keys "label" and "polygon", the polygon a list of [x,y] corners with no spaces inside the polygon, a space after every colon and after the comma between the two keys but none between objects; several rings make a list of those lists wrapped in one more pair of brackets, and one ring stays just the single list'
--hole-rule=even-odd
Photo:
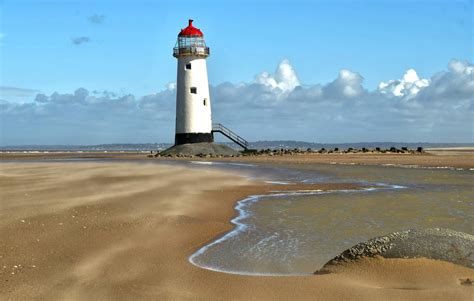
[{"label": "bright white cloud puff, second from the right edge of the photo", "polygon": [[415,69],[409,69],[405,72],[402,79],[380,82],[378,91],[382,94],[411,98],[428,86],[429,81],[427,79],[420,79]]}]

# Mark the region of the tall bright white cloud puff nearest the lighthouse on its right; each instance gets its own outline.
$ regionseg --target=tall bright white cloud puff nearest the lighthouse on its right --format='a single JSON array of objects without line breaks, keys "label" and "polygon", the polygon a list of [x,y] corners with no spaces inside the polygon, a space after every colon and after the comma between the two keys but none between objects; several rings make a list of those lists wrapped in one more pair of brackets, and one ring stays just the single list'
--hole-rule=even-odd
[{"label": "tall bright white cloud puff nearest the lighthouse on its right", "polygon": [[283,92],[291,92],[300,85],[298,76],[288,60],[282,60],[274,74],[262,72],[257,75],[255,82]]}]

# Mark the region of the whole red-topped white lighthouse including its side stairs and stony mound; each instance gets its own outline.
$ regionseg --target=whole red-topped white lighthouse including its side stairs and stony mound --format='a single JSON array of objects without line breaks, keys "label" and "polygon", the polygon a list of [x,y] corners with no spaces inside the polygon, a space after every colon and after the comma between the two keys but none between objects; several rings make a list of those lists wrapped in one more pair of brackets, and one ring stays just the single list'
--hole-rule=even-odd
[{"label": "whole red-topped white lighthouse including its side stairs and stony mound", "polygon": [[193,20],[179,32],[173,56],[178,59],[176,133],[174,145],[160,155],[239,155],[227,145],[214,143],[214,133],[221,133],[247,150],[249,143],[244,138],[221,123],[212,123],[206,66],[209,47],[202,31],[193,26]]}]

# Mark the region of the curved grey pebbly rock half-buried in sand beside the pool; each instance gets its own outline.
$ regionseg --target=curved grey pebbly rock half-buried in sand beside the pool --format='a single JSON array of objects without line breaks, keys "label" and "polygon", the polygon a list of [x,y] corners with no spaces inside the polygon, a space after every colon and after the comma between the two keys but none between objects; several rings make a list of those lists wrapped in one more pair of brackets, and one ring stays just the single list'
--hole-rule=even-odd
[{"label": "curved grey pebbly rock half-buried in sand beside the pool", "polygon": [[[324,268],[361,257],[437,259],[474,268],[474,235],[449,229],[407,230],[359,243],[328,261]],[[319,271],[318,271],[319,272]]]}]

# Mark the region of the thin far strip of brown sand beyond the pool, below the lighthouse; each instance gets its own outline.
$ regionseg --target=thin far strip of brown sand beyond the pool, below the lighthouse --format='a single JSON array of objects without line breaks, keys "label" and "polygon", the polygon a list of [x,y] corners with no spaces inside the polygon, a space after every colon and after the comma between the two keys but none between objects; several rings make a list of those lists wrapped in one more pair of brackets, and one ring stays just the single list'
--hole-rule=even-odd
[{"label": "thin far strip of brown sand beyond the pool, below the lighthouse", "polygon": [[282,156],[239,156],[239,157],[161,157],[149,158],[143,152],[0,152],[0,163],[9,161],[54,161],[54,160],[119,160],[119,161],[229,161],[241,163],[279,164],[340,164],[340,165],[375,165],[399,168],[428,168],[474,170],[474,151],[428,150],[423,154],[294,154]]}]

